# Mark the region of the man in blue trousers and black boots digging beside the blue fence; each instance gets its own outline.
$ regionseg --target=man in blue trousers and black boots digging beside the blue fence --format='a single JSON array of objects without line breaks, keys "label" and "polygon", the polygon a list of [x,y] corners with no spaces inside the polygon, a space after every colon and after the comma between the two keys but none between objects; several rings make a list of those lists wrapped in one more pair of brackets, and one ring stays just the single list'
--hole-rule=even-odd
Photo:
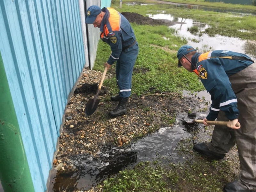
[{"label": "man in blue trousers and black boots digging beside the blue fence", "polygon": [[116,81],[119,94],[110,99],[119,101],[109,112],[111,116],[127,113],[126,103],[132,91],[132,70],[139,53],[139,45],[129,21],[113,8],[92,5],[87,9],[85,23],[100,28],[100,38],[110,45],[111,54],[104,64],[108,69],[116,62]]}]

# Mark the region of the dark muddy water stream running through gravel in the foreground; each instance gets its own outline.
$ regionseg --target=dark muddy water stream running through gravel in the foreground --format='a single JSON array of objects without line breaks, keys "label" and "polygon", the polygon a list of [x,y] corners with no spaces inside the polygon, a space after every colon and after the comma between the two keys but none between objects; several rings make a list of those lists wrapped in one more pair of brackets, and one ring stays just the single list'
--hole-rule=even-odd
[{"label": "dark muddy water stream running through gravel in the foreground", "polygon": [[[204,116],[204,113],[197,114],[196,118]],[[184,125],[184,121],[192,122],[193,119],[190,119],[187,113],[181,113],[172,127],[160,128],[158,132],[134,141],[125,149],[105,146],[97,157],[88,154],[70,156],[77,171],[65,173],[53,171],[49,189],[51,192],[88,190],[110,175],[125,168],[132,169],[141,161],[163,158],[168,162],[182,162],[186,159],[177,155],[175,151],[177,143],[189,137],[191,130],[203,129],[201,125]]]}]

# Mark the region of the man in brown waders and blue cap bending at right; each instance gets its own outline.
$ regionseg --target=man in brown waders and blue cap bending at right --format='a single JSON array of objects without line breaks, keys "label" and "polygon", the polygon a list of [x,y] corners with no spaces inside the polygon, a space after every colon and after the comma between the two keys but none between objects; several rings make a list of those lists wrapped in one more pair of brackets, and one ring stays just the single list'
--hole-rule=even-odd
[{"label": "man in brown waders and blue cap bending at right", "polygon": [[[182,46],[178,67],[195,72],[211,94],[207,120],[228,121],[215,125],[212,140],[199,143],[194,150],[214,159],[223,159],[237,145],[241,165],[238,180],[224,187],[226,192],[256,190],[256,63],[245,54],[227,50],[199,53],[189,45]],[[239,121],[241,124],[236,127]]]}]

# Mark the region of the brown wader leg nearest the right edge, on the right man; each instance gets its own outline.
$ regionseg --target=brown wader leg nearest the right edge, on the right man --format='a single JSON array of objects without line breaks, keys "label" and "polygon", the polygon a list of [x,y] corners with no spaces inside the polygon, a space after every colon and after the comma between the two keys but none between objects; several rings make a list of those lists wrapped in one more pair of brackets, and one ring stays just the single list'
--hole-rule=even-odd
[{"label": "brown wader leg nearest the right edge, on the right man", "polygon": [[236,93],[241,128],[235,131],[241,165],[239,179],[250,190],[256,189],[256,63],[230,76]]}]

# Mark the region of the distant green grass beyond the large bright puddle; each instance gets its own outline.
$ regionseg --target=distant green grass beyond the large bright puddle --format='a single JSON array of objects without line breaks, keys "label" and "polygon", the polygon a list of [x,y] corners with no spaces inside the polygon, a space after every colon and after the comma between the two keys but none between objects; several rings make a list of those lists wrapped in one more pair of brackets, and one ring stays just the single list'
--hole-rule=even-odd
[{"label": "distant green grass beyond the large bright puddle", "polygon": [[[127,0],[126,0],[127,1]],[[190,3],[191,1],[173,1],[179,3]],[[196,2],[196,1],[194,1]],[[210,3],[210,2],[197,2],[198,4],[206,3],[209,6],[218,4],[221,8],[233,8],[243,12],[243,10],[251,10],[256,12],[256,6],[250,5],[233,5],[223,3]],[[118,4],[119,5],[119,4]],[[176,7],[168,4],[156,4],[156,5],[127,5],[125,2],[122,5],[122,9],[119,9],[117,4],[114,3],[115,7],[120,12],[136,12],[146,16],[147,14],[158,14],[164,11],[165,14],[171,14],[174,17],[189,18],[196,21],[206,23],[211,26],[205,33],[209,36],[216,34],[229,37],[238,37],[241,39],[255,40],[256,36],[256,16],[247,15],[241,16],[240,14],[232,13],[221,13],[213,11],[204,11],[196,9],[183,9],[182,7]],[[222,6],[220,6],[222,5]]]}]

